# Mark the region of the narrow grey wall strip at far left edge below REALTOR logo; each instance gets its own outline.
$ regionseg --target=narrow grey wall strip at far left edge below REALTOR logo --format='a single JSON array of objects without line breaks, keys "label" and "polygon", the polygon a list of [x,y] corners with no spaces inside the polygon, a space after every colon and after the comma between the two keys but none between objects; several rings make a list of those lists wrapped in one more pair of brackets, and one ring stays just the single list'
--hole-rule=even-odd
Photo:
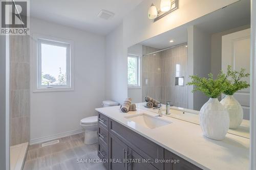
[{"label": "narrow grey wall strip at far left edge below REALTOR logo", "polygon": [[[7,169],[6,149],[6,37],[0,35],[0,167]],[[8,124],[9,125],[9,124]]]}]

